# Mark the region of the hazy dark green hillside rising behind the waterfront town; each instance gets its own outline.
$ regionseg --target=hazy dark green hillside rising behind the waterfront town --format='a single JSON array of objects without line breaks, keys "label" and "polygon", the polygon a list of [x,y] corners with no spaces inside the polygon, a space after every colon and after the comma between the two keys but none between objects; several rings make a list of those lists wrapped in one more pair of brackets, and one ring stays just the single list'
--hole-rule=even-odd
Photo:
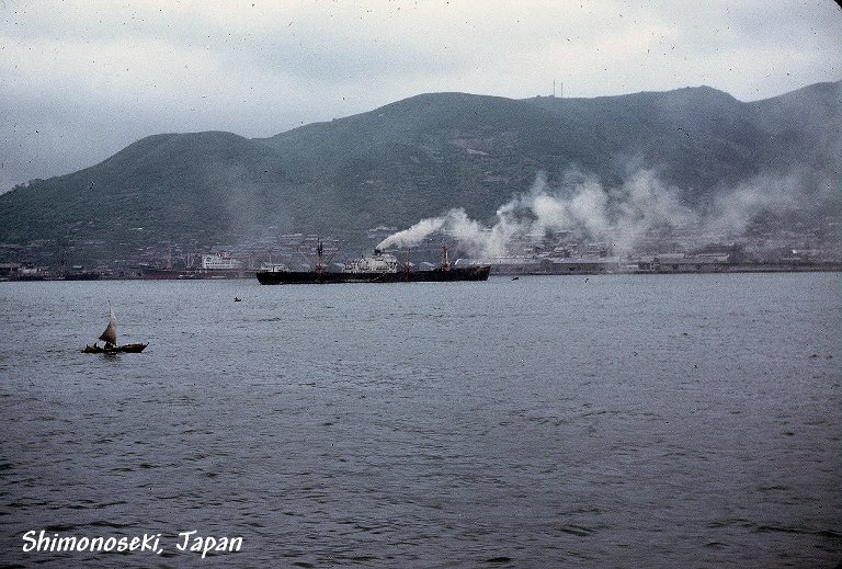
[{"label": "hazy dark green hillside rising behind the waterfront town", "polygon": [[[571,169],[612,185],[650,168],[704,207],[760,173],[838,181],[839,112],[840,82],[751,103],[706,87],[596,99],[435,93],[266,139],[162,134],[0,195],[0,242],[231,242],[270,226],[354,239],[456,206],[488,219],[536,172],[553,182]],[[837,207],[837,194],[821,198]]]}]

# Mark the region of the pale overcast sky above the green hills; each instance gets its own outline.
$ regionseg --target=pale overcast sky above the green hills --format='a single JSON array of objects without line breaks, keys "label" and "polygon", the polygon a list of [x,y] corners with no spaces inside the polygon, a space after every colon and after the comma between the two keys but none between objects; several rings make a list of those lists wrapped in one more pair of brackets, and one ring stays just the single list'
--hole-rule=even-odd
[{"label": "pale overcast sky above the green hills", "polygon": [[831,0],[0,0],[0,191],[148,135],[272,136],[420,93],[742,101],[842,78]]}]

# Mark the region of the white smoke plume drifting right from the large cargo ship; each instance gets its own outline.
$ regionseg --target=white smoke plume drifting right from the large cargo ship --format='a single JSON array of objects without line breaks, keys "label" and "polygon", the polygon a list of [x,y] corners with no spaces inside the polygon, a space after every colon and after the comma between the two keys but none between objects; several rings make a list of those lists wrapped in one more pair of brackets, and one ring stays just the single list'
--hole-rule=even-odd
[{"label": "white smoke plume drifting right from the large cargo ship", "polygon": [[692,226],[698,232],[741,235],[763,210],[780,213],[806,203],[803,186],[797,173],[758,177],[699,212],[651,170],[637,170],[622,185],[610,189],[578,172],[569,172],[559,187],[551,187],[546,174],[538,173],[528,192],[498,208],[491,226],[454,208],[392,234],[377,247],[412,247],[444,231],[475,257],[499,257],[510,253],[515,237],[571,231],[608,242],[623,254],[653,229]]}]

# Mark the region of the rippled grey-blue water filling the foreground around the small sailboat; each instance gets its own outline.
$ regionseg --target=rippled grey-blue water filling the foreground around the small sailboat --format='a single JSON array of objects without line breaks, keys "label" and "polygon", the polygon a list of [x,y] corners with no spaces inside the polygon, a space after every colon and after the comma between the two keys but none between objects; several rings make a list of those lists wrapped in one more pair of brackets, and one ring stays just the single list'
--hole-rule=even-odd
[{"label": "rippled grey-blue water filling the foreground around the small sailboat", "polygon": [[[0,565],[832,567],[839,293],[4,283]],[[106,300],[146,352],[78,351]],[[24,553],[30,530],[163,553]],[[191,530],[241,550],[179,551]]]}]

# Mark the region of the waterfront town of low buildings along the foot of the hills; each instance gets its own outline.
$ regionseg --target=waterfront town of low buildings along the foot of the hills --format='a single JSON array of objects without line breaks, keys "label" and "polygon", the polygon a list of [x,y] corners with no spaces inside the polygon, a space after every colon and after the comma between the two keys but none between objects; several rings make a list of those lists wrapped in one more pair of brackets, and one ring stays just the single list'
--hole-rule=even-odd
[{"label": "waterfront town of low buildings along the foot of the hills", "polygon": [[[456,236],[440,231],[414,247],[390,252],[402,264],[424,270],[434,265],[441,246],[446,243],[455,266],[490,265],[491,274],[500,275],[840,270],[838,221],[819,228],[755,231],[740,239],[699,235],[696,229],[650,230],[636,236],[634,247],[623,250],[614,242],[570,231],[519,235],[510,239],[505,254],[497,255],[477,254],[460,247]],[[321,269],[342,271],[349,260],[371,252],[395,231],[396,227],[371,228],[364,239],[349,246],[348,240],[335,236],[281,234],[269,227],[263,235],[236,243],[160,241],[121,257],[102,240],[73,236],[60,242],[0,243],[0,280],[253,278],[257,271],[266,269],[316,270],[319,243],[325,262]]]}]

